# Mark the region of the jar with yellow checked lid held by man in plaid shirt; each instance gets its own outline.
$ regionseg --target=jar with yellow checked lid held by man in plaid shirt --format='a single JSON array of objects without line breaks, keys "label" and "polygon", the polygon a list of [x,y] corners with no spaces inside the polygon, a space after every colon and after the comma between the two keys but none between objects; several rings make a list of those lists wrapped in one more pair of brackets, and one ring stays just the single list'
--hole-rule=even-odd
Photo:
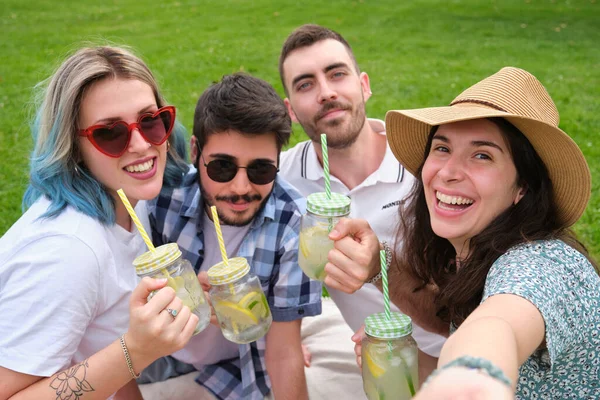
[{"label": "jar with yellow checked lid held by man in plaid shirt", "polygon": [[243,257],[230,258],[208,270],[210,299],[223,336],[239,344],[263,337],[273,317],[256,275]]}]

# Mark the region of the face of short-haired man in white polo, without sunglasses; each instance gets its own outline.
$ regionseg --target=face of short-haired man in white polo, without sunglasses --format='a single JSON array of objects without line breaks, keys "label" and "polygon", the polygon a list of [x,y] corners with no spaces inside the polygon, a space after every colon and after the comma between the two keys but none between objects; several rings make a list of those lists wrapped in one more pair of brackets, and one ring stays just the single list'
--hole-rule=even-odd
[{"label": "face of short-haired man in white polo, without sunglasses", "polygon": [[313,141],[327,134],[331,148],[350,146],[366,122],[369,77],[360,75],[346,47],[327,39],[289,53],[283,63],[292,120]]}]

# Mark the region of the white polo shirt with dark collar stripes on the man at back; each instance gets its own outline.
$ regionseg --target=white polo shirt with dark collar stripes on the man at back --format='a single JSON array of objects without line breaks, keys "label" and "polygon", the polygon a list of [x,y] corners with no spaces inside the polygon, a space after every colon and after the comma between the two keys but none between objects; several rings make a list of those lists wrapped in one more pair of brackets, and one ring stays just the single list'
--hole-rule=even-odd
[{"label": "white polo shirt with dark collar stripes on the man at back", "polygon": [[[385,135],[383,121],[369,119],[368,123],[375,132]],[[298,143],[281,153],[280,165],[281,176],[304,196],[324,191],[323,167],[311,141]],[[396,160],[389,145],[379,169],[352,190],[335,176],[330,178],[332,191],[352,199],[350,218],[366,219],[379,240],[387,241],[393,246],[398,228],[398,205],[410,192],[415,178]],[[354,294],[331,288],[327,288],[327,291],[346,323],[355,332],[364,324],[367,316],[383,312],[383,295],[375,285],[365,284]],[[399,311],[393,304],[392,310]],[[445,341],[443,336],[427,332],[413,324],[413,337],[423,352],[439,357]]]}]

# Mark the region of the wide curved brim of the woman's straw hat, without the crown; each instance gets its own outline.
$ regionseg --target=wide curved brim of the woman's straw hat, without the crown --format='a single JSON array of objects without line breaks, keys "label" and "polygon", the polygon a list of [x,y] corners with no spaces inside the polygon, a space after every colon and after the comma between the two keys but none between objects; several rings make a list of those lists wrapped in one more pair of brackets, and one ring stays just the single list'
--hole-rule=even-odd
[{"label": "wide curved brim of the woman's straw hat, without the crown", "polygon": [[413,175],[423,163],[432,127],[482,118],[505,118],[519,129],[546,165],[559,221],[573,225],[591,196],[591,174],[577,144],[561,129],[544,122],[503,111],[475,106],[448,106],[387,112],[386,131],[392,152]]}]

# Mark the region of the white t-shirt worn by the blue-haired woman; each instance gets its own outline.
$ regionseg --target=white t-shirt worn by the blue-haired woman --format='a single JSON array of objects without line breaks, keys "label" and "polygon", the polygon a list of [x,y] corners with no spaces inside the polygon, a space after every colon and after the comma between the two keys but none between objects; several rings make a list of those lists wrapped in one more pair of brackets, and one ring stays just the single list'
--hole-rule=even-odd
[{"label": "white t-shirt worn by the blue-haired woman", "polygon": [[49,204],[36,201],[0,238],[0,366],[44,377],[127,331],[139,282],[132,261],[146,251],[135,228],[106,226],[71,207],[38,219]]}]

